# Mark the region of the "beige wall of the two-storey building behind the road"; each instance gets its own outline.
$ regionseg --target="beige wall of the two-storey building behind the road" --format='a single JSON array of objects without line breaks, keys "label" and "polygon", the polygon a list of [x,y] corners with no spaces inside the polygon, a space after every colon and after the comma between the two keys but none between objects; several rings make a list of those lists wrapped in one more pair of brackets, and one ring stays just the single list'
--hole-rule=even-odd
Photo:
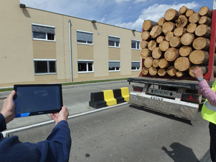
[{"label": "beige wall of the two-storey building behind the road", "polygon": [[[140,61],[140,51],[131,49],[131,40],[141,33],[90,20],[33,8],[21,9],[19,0],[0,1],[0,87],[18,83],[54,83],[137,76],[131,61]],[[72,68],[70,65],[69,23],[71,21]],[[32,23],[55,27],[56,41],[32,39]],[[77,43],[77,30],[93,33],[93,44]],[[120,38],[120,48],[108,47],[108,36]],[[56,59],[57,74],[35,75],[34,59]],[[94,60],[93,73],[78,73],[77,60]],[[108,61],[120,60],[120,72],[109,72]]]}]

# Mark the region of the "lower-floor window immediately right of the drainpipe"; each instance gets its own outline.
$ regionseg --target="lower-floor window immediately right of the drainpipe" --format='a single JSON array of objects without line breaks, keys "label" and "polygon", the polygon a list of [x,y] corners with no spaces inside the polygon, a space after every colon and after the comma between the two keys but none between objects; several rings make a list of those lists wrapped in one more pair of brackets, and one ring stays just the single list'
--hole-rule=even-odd
[{"label": "lower-floor window immediately right of the drainpipe", "polygon": [[93,60],[78,60],[78,73],[86,73],[93,71]]}]

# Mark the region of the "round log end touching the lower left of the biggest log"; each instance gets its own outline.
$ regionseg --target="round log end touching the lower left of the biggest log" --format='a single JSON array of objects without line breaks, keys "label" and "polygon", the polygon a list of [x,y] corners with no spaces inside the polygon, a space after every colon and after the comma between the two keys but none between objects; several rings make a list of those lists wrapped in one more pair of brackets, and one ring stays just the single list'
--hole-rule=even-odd
[{"label": "round log end touching the lower left of the biggest log", "polygon": [[178,57],[174,66],[178,71],[186,71],[190,67],[190,61],[187,57]]}]

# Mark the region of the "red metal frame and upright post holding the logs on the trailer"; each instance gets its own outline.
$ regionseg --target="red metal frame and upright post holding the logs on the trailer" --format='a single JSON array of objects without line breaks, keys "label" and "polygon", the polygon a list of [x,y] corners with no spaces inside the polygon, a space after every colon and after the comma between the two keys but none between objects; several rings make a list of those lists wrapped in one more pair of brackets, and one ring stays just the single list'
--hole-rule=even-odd
[{"label": "red metal frame and upright post holding the logs on the trailer", "polygon": [[[144,31],[142,29],[142,31]],[[211,24],[211,39],[210,39],[210,49],[209,49],[209,63],[208,63],[208,72],[204,75],[205,80],[214,81],[214,54],[215,54],[215,38],[216,38],[216,10],[212,11],[212,24]],[[144,67],[144,59],[142,59],[142,68]],[[171,77],[171,76],[151,76],[151,75],[143,75],[142,71],[140,73],[142,77],[153,77],[153,78],[172,78],[172,79],[187,79],[187,80],[195,80],[193,77]]]}]

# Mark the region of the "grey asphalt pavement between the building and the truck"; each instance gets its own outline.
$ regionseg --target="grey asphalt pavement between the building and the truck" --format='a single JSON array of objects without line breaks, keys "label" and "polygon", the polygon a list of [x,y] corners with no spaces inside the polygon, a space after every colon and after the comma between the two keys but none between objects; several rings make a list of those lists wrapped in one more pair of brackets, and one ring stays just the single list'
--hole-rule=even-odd
[{"label": "grey asphalt pavement between the building and the truck", "polygon": [[[127,81],[63,87],[63,102],[70,116],[95,110],[89,107],[91,92],[131,86]],[[0,93],[0,97],[9,92]],[[0,105],[3,100],[0,99]],[[0,108],[1,109],[1,108]],[[51,121],[49,115],[16,118],[8,130]],[[200,113],[187,121],[129,104],[68,120],[72,162],[197,162],[209,149],[208,122]],[[15,132],[23,142],[45,140],[54,124]],[[12,134],[11,134],[12,135]]]}]

